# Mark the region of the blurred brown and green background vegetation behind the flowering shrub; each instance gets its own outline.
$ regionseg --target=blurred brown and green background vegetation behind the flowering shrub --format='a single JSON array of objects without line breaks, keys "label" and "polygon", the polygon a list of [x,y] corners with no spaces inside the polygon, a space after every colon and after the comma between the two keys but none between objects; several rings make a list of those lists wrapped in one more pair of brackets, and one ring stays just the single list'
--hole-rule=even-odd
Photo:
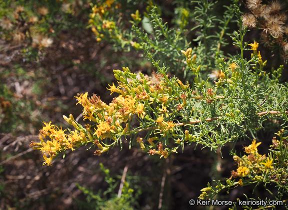
[{"label": "blurred brown and green background vegetation behind the flowering shrub", "polygon": [[[234,162],[224,149],[225,161],[220,152],[193,147],[185,147],[182,154],[159,161],[138,149],[129,150],[128,144],[121,152],[115,148],[100,157],[93,156],[92,150],[79,148],[67,152],[65,161],[60,157],[53,166],[42,167],[41,153],[28,145],[38,140],[43,121],[67,127],[62,115],[71,113],[81,122],[82,109],[75,106],[76,93],[95,93],[109,103],[113,95],[106,87],[115,82],[113,69],[128,66],[133,72],[153,70],[143,52],[121,48],[108,39],[96,39],[88,28],[89,15],[93,5],[100,2],[104,1],[0,0],[1,210],[191,209],[188,201],[196,199],[207,182],[229,177],[234,169]],[[127,28],[131,27],[130,15],[137,9],[144,12],[149,5],[141,0],[118,2],[122,14],[119,21],[125,21]],[[232,1],[221,1],[225,2]],[[185,0],[155,3],[168,27],[183,21],[178,15],[180,7],[194,8]],[[210,9],[221,14],[221,8],[215,4]],[[246,9],[243,5],[241,8]],[[177,15],[178,19],[174,18]],[[195,22],[186,27],[191,28]],[[232,19],[227,33],[236,28]],[[193,45],[197,44],[196,34],[186,33]],[[257,35],[253,30],[248,36],[252,40]],[[227,46],[222,49],[225,53],[235,53],[231,45]],[[270,51],[263,49],[261,54],[266,60]],[[277,64],[283,62],[277,59]],[[177,63],[171,60],[170,65]],[[272,133],[267,135],[272,138]],[[235,199],[243,190],[232,192],[223,195],[223,199]]]}]

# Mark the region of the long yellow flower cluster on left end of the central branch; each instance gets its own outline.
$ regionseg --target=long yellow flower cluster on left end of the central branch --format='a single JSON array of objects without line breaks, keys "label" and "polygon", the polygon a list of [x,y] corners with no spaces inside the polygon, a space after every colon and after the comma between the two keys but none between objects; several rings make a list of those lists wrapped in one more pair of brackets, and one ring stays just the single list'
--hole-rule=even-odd
[{"label": "long yellow flower cluster on left end of the central branch", "polygon": [[[124,72],[123,72],[124,71]],[[86,128],[83,128],[80,124],[76,123],[73,116],[70,114],[69,118],[63,116],[64,120],[75,128],[75,131],[70,131],[68,134],[65,133],[66,130],[62,130],[51,122],[45,123],[43,128],[40,130],[39,143],[31,142],[30,146],[33,149],[40,150],[43,153],[44,164],[51,165],[51,161],[60,152],[67,149],[74,150],[75,148],[86,144],[88,142],[94,142],[94,144],[99,148],[95,151],[95,155],[100,155],[103,152],[108,151],[108,149],[114,145],[117,140],[122,135],[136,134],[141,129],[132,129],[130,121],[133,115],[137,115],[139,119],[144,119],[149,121],[150,124],[155,127],[144,128],[147,129],[158,129],[160,133],[165,136],[173,131],[175,123],[172,120],[166,120],[169,118],[169,110],[165,104],[169,103],[171,100],[182,100],[182,107],[187,105],[186,95],[181,94],[181,97],[173,99],[169,98],[171,88],[165,86],[165,82],[162,80],[164,76],[167,75],[155,75],[157,82],[152,83],[152,81],[147,81],[146,77],[141,75],[141,78],[136,80],[127,80],[123,77],[124,74],[129,76],[135,76],[130,73],[128,68],[123,68],[123,71],[114,70],[115,77],[119,80],[119,85],[116,87],[114,84],[107,88],[111,93],[118,93],[118,97],[113,98],[112,102],[107,105],[100,100],[100,97],[92,95],[88,97],[88,93],[81,93],[75,96],[77,99],[76,104],[80,104],[83,107],[83,120],[88,119],[95,123],[94,131],[91,130],[89,124]],[[185,92],[187,85],[183,85],[180,80],[177,80],[174,84],[179,90]],[[151,118],[150,115],[146,113],[145,107],[149,107],[153,103],[161,104],[161,108],[157,108],[154,115],[157,116],[156,119]],[[127,122],[129,121],[129,122]],[[45,137],[49,137],[50,140],[44,142]],[[99,143],[100,140],[111,138],[113,143],[110,145],[105,145]],[[157,138],[152,137],[148,139],[148,143],[154,147],[153,141]],[[140,144],[140,148],[148,151],[151,146],[144,145],[142,138],[138,137],[137,142]],[[150,154],[158,154],[160,157],[166,158],[170,150],[163,150],[162,144],[159,142],[158,151],[150,150]],[[155,151],[155,153],[151,152]],[[48,157],[47,157],[48,155]]]}]

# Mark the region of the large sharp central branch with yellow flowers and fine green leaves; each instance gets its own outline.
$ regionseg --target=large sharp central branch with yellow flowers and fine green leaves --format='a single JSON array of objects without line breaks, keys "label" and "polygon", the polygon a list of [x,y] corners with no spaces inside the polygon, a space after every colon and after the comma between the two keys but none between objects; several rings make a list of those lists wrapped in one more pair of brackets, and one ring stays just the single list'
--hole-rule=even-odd
[{"label": "large sharp central branch with yellow flowers and fine green leaves", "polygon": [[[284,117],[287,114],[284,106],[285,98],[280,99],[281,106],[271,103],[275,99],[279,100],[277,98],[279,93],[282,96],[287,94],[286,87],[276,82],[282,67],[274,71],[270,79],[262,70],[265,62],[261,60],[256,42],[249,44],[253,50],[251,59],[248,61],[244,59],[243,50],[244,46],[247,46],[247,43],[242,42],[244,33],[245,29],[240,30],[235,32],[233,37],[235,44],[241,49],[241,55],[235,57],[238,62],[226,63],[222,59],[219,68],[223,78],[215,82],[212,87],[208,87],[210,85],[208,79],[200,78],[201,66],[196,62],[196,55],[192,56],[191,48],[181,51],[186,57],[187,66],[195,75],[190,88],[176,77],[168,78],[167,68],[159,66],[159,60],[154,61],[144,44],[146,55],[157,68],[157,73],[152,75],[153,78],[144,77],[140,73],[141,78],[137,79],[128,68],[123,68],[123,71],[114,70],[119,85],[116,87],[113,84],[108,90],[111,93],[118,93],[119,96],[109,105],[96,95],[89,98],[85,93],[76,97],[77,104],[83,106],[84,119],[93,121],[95,125],[87,124],[86,128],[83,128],[70,115],[64,119],[73,125],[76,131],[65,134],[61,128],[51,123],[45,124],[40,139],[43,141],[42,137],[49,136],[53,141],[48,141],[46,148],[42,147],[44,142],[33,143],[31,146],[51,154],[53,158],[58,152],[73,150],[87,142],[96,141],[94,144],[101,149],[96,152],[99,155],[106,152],[115,142],[121,142],[122,135],[134,136],[139,131],[152,130],[144,140],[143,137],[137,137],[140,148],[153,155],[151,151],[155,145],[153,141],[169,146],[170,138],[173,139],[175,146],[171,149],[166,148],[168,152],[164,157],[167,157],[185,142],[196,142],[215,150],[228,141],[236,140],[247,129],[257,129],[265,119],[265,114],[280,114]],[[134,128],[136,119],[139,126]],[[103,147],[99,141],[106,138],[111,138],[114,142],[111,145],[102,142]],[[148,142],[146,145],[143,144],[145,140]]]}]

